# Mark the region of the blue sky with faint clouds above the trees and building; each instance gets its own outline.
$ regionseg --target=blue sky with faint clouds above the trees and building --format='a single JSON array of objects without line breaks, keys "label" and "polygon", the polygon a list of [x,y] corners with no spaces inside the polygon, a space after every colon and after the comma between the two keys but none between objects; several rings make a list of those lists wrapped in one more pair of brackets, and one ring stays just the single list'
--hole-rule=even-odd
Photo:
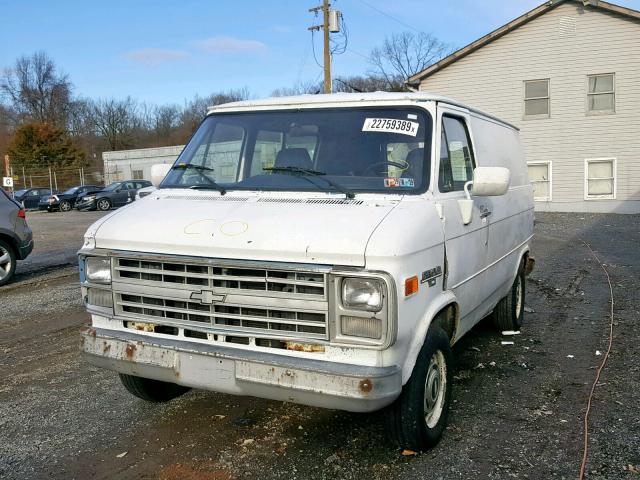
[{"label": "blue sky with faint clouds above the trees and building", "polygon": [[[311,0],[0,0],[0,69],[44,50],[78,95],[182,104],[194,95],[319,81]],[[348,29],[334,76],[371,70],[367,56],[385,36],[431,33],[462,47],[541,0],[334,0]],[[640,10],[640,0],[621,5]],[[315,34],[322,62],[322,39]]]}]

